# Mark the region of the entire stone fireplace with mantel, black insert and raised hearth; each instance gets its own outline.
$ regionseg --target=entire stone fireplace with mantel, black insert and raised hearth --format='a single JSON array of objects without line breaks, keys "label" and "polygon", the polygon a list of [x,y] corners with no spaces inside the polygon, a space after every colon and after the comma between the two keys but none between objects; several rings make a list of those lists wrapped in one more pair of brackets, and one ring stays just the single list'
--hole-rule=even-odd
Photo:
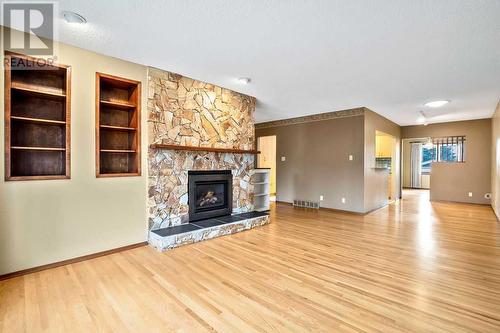
[{"label": "entire stone fireplace with mantel, black insert and raised hearth", "polygon": [[269,222],[254,212],[255,98],[148,70],[149,242],[163,251]]}]

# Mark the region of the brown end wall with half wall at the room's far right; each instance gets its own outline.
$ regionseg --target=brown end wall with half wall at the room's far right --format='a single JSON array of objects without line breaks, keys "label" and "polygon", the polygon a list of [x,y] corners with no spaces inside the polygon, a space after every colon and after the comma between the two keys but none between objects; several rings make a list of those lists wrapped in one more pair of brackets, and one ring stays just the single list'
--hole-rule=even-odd
[{"label": "brown end wall with half wall at the room's far right", "polygon": [[[465,163],[433,163],[431,200],[489,204],[491,191],[491,119],[405,126],[403,138],[466,136]],[[468,192],[472,192],[470,198]]]}]

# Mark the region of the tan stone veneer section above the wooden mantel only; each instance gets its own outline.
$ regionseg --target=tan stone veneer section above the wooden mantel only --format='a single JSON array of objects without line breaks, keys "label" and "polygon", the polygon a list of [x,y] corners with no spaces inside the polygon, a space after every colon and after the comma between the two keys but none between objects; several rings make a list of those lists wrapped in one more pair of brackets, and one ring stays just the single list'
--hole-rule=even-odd
[{"label": "tan stone veneer section above the wooden mantel only", "polygon": [[149,143],[253,149],[255,98],[151,68]]}]

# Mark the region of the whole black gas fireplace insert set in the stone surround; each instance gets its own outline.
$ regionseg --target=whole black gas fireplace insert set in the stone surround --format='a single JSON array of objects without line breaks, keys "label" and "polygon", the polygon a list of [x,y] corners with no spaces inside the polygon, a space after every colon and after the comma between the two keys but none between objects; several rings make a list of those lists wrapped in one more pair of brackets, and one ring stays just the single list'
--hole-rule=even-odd
[{"label": "whole black gas fireplace insert set in the stone surround", "polygon": [[188,172],[189,221],[231,215],[233,175],[231,170]]}]

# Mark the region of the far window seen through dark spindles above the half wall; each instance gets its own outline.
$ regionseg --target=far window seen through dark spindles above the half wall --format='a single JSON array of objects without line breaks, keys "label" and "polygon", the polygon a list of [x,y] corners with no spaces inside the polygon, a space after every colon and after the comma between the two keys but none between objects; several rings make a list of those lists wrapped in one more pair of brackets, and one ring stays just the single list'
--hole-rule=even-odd
[{"label": "far window seen through dark spindles above the half wall", "polygon": [[422,173],[431,171],[432,162],[465,162],[465,136],[433,138],[432,146],[422,146]]}]

